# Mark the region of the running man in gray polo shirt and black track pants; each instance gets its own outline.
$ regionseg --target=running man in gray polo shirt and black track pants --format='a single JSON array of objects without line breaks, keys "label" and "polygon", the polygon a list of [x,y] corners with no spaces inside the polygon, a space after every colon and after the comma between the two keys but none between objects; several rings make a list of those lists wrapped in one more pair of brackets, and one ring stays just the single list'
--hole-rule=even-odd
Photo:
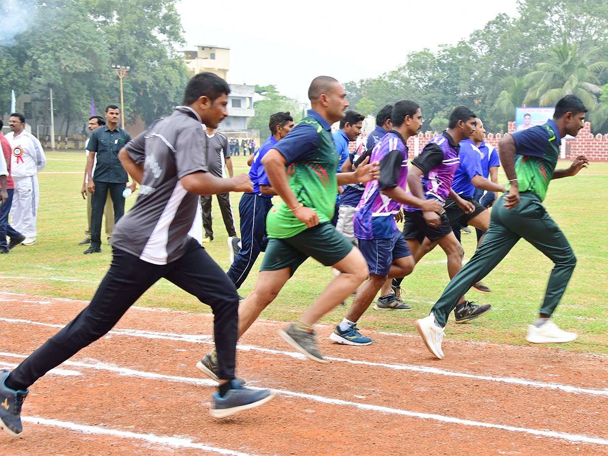
[{"label": "running man in gray polo shirt and black track pants", "polygon": [[218,76],[197,74],[186,86],[185,106],[153,123],[120,151],[123,166],[140,183],[136,204],[114,227],[112,264],[91,303],[15,370],[0,373],[0,426],[8,434],[23,430],[21,405],[30,385],[108,333],[161,277],[213,309],[219,392],[213,394],[212,416],[228,416],[272,397],[271,390],[250,390],[235,380],[237,289],[187,235],[198,195],[252,191],[247,174],[222,179],[208,172],[201,123],[217,128],[228,115],[229,93]]}]

